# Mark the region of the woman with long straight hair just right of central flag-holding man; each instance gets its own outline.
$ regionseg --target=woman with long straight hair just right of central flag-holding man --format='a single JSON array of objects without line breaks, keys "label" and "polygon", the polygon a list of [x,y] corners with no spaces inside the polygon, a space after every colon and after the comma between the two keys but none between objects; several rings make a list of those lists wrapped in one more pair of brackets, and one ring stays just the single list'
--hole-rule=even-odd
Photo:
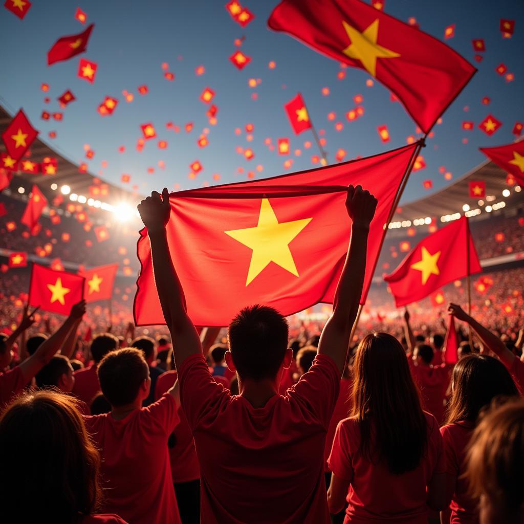
[{"label": "woman with long straight hair just right of central flag-holding man", "polygon": [[353,362],[352,397],[329,457],[330,511],[340,511],[347,500],[345,524],[427,524],[428,506],[444,506],[442,437],[435,418],[422,411],[395,337],[364,337]]}]

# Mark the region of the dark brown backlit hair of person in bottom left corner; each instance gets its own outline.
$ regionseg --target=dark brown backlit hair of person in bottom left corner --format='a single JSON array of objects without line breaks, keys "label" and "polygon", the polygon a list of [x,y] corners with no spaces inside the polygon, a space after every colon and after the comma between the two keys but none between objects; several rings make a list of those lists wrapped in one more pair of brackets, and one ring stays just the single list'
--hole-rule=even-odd
[{"label": "dark brown backlit hair of person in bottom left corner", "polygon": [[52,390],[24,393],[0,417],[0,449],[6,522],[70,524],[99,507],[100,455],[77,399]]}]

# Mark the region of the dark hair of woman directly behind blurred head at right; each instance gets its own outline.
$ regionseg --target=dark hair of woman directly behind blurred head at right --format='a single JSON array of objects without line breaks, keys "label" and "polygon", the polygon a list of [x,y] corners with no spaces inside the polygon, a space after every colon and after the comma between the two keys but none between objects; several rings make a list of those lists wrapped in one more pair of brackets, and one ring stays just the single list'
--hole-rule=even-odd
[{"label": "dark hair of woman directly behind blurred head at right", "polygon": [[482,408],[498,395],[518,395],[508,370],[497,358],[464,355],[453,368],[453,392],[446,424],[459,420],[476,422]]}]

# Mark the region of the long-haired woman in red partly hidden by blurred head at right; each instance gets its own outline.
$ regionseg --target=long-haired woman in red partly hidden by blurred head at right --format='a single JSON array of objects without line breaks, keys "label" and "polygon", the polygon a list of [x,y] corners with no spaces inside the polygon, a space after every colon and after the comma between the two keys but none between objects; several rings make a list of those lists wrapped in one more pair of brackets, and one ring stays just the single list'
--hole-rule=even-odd
[{"label": "long-haired woman in red partly hidden by blurred head at right", "polygon": [[478,414],[494,398],[517,397],[518,390],[504,364],[486,355],[465,355],[453,368],[451,401],[441,428],[446,454],[446,505],[452,524],[477,524],[478,501],[464,478],[466,451]]}]

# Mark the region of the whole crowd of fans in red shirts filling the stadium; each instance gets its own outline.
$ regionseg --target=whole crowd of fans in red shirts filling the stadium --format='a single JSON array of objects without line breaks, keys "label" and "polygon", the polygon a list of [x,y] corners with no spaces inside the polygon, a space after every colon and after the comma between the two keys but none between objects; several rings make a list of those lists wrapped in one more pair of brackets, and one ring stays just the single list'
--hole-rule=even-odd
[{"label": "whole crowd of fans in red shirts filling the stadium", "polygon": [[56,326],[24,308],[0,336],[3,520],[524,520],[522,323],[494,333],[481,309],[451,303],[456,363],[445,322],[413,326],[407,311],[401,331],[375,319],[350,340],[376,206],[350,186],[351,241],[321,331],[257,304],[225,339],[199,332],[166,263],[167,200],[139,211],[170,340],[118,322],[83,347],[84,301]]}]

